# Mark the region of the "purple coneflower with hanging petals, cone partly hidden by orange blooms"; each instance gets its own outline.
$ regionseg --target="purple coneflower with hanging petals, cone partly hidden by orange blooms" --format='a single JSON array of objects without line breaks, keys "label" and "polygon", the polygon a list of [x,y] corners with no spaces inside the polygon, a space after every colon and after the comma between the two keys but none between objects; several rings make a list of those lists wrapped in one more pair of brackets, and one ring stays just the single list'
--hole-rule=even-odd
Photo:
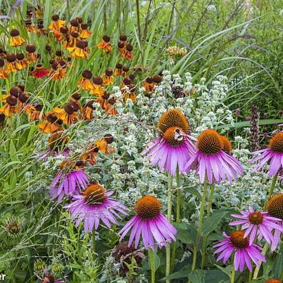
[{"label": "purple coneflower with hanging petals, cone partly hidden by orange blooms", "polygon": [[[52,199],[57,199],[61,202],[64,195],[72,197],[72,195],[80,193],[88,184],[88,177],[84,170],[80,169],[82,162],[77,162],[75,168],[73,163],[68,159],[61,163],[60,169],[50,185],[50,195]],[[72,168],[69,173],[66,173],[66,168]],[[75,169],[75,170],[74,170]]]}]

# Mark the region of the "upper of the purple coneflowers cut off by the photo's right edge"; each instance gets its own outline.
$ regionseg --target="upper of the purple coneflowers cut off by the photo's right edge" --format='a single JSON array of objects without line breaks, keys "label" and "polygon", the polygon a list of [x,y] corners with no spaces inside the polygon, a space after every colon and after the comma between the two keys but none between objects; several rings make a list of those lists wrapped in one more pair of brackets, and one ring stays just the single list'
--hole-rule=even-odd
[{"label": "upper of the purple coneflowers cut off by the photo's right edge", "polygon": [[260,153],[260,155],[251,159],[251,163],[258,160],[260,162],[253,168],[253,172],[259,170],[264,164],[270,161],[269,176],[273,177],[277,175],[283,169],[283,132],[275,134],[269,140],[269,146],[267,148],[253,152],[253,154],[255,153]]}]

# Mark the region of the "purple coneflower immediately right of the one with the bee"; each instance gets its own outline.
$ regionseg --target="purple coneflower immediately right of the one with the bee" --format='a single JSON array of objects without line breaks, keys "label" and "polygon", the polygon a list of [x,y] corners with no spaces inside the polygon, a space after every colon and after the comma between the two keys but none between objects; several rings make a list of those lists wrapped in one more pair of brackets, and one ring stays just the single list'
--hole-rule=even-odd
[{"label": "purple coneflower immediately right of the one with the bee", "polygon": [[240,162],[224,151],[223,138],[213,129],[204,130],[197,138],[197,151],[185,169],[189,170],[191,166],[196,168],[200,182],[204,183],[207,176],[209,184],[226,178],[232,182],[243,173]]}]

